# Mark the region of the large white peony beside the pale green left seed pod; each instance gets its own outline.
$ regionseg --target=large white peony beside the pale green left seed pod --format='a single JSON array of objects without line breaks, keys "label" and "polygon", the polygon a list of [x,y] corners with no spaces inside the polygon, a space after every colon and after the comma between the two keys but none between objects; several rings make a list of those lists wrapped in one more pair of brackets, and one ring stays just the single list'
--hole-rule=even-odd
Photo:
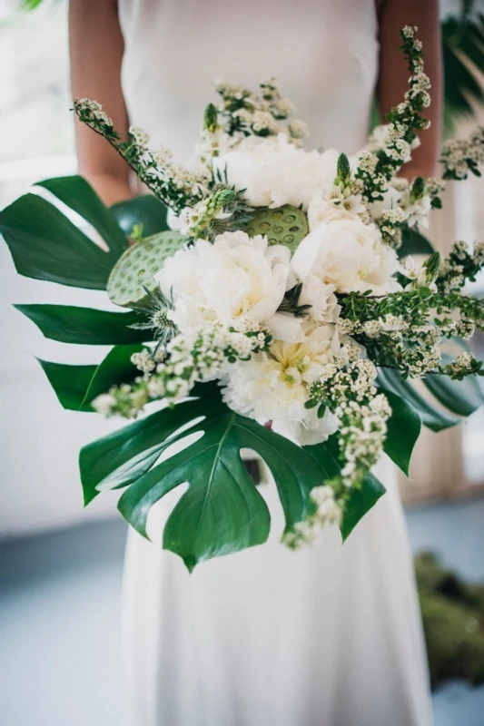
[{"label": "large white peony beside the pale green left seed pod", "polygon": [[231,325],[242,316],[263,323],[291,287],[291,252],[267,238],[225,232],[213,244],[196,240],[164,261],[155,279],[173,294],[173,321],[190,335],[207,323]]}]

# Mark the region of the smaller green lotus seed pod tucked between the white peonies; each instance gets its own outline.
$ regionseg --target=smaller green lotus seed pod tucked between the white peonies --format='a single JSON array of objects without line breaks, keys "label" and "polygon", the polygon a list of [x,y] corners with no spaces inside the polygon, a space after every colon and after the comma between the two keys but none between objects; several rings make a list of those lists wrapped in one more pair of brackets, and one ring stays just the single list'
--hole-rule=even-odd
[{"label": "smaller green lotus seed pod tucked between the white peonies", "polygon": [[244,227],[250,237],[263,234],[269,244],[283,244],[291,254],[298,249],[301,240],[309,234],[308,218],[305,212],[284,204],[275,210],[258,207],[252,219]]}]

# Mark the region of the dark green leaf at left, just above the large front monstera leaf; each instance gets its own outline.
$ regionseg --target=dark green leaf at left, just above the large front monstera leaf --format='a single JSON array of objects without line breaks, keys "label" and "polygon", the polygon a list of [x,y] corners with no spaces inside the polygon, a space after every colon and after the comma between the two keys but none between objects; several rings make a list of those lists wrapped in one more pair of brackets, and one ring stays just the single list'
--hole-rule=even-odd
[{"label": "dark green leaf at left, just above the large front monstera leaf", "polygon": [[143,346],[116,346],[98,366],[71,366],[37,358],[64,408],[94,411],[91,402],[111,386],[129,383],[139,375],[131,357]]}]

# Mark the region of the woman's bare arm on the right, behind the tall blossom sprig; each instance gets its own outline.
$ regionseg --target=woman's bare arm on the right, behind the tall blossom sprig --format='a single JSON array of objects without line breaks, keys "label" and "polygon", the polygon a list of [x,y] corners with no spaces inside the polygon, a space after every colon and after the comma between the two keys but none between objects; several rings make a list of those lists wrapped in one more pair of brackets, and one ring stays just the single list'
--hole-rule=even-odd
[{"label": "woman's bare arm on the right, behind the tall blossom sprig", "polygon": [[442,64],[440,57],[439,0],[382,0],[380,2],[380,74],[377,98],[382,118],[403,99],[408,88],[409,71],[401,51],[400,30],[404,25],[417,25],[417,37],[425,52],[425,73],[430,76],[431,104],[424,110],[430,129],[421,132],[421,145],[412,153],[412,160],[401,173],[413,179],[433,176],[437,172],[442,113]]}]

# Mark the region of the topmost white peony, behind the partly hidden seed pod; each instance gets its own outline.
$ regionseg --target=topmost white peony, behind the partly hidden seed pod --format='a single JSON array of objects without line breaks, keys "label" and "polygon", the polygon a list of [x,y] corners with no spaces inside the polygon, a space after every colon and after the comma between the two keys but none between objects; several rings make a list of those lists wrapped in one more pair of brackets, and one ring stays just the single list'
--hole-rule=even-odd
[{"label": "topmost white peony, behind the partly hidden seed pod", "polygon": [[291,204],[304,210],[315,191],[332,184],[336,176],[338,152],[307,152],[287,136],[249,136],[230,152],[214,158],[219,172],[252,207],[282,207]]}]

